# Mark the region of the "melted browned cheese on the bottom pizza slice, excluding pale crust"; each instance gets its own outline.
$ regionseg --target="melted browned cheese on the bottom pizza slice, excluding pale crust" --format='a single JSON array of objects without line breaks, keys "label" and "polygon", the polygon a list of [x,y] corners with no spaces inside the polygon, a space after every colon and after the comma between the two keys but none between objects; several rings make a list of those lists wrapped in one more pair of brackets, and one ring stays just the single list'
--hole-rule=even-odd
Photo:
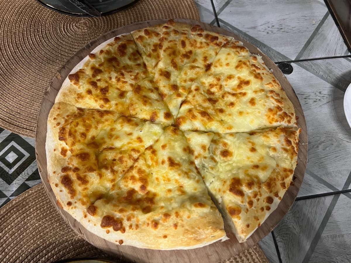
[{"label": "melted browned cheese on the bottom pizza slice, excluding pale crust", "polygon": [[[183,222],[201,222],[204,217],[212,218],[215,225],[223,228],[221,215],[207,194],[186,139],[175,127],[166,128],[109,193],[108,200],[101,199],[94,206],[102,221],[112,217],[120,222],[119,231],[132,234],[164,229],[162,238],[177,239],[182,231],[185,238],[192,239],[192,232],[197,229]],[[116,231],[113,225],[111,230]],[[209,232],[204,229],[201,238]],[[150,245],[154,242],[144,238]]]}]

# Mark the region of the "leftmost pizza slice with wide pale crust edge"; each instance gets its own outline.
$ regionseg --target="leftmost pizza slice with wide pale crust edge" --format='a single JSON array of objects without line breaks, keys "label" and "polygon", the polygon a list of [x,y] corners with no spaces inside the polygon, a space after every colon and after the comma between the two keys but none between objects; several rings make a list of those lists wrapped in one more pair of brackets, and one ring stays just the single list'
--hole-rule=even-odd
[{"label": "leftmost pizza slice with wide pale crust edge", "polygon": [[119,114],[54,104],[48,117],[48,179],[61,207],[81,210],[106,195],[145,148],[163,133],[161,124]]}]

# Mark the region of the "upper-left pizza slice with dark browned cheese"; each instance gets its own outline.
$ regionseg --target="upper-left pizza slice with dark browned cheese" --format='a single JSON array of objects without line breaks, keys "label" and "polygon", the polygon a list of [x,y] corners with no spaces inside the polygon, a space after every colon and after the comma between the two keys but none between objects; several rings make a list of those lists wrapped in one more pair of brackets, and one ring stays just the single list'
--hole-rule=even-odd
[{"label": "upper-left pizza slice with dark browned cheese", "polygon": [[[167,106],[147,72],[130,34],[96,48],[68,79],[56,98],[86,109],[112,110],[124,116],[170,124]],[[135,110],[135,101],[142,101]]]}]

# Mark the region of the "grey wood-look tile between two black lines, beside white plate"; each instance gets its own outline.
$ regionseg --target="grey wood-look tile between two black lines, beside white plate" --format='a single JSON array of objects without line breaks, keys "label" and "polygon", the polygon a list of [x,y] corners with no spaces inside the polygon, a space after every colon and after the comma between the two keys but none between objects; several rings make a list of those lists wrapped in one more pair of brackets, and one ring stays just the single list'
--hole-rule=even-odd
[{"label": "grey wood-look tile between two black lines, beside white plate", "polygon": [[[351,82],[351,63],[345,59],[329,59],[292,65],[294,71],[287,75],[287,79],[306,118],[309,137],[307,171],[319,182],[314,185],[314,181],[306,176],[302,193],[341,190],[351,171],[351,129],[344,115],[344,92],[340,89]],[[335,88],[334,83],[340,89]],[[328,190],[321,184],[333,189]]]}]

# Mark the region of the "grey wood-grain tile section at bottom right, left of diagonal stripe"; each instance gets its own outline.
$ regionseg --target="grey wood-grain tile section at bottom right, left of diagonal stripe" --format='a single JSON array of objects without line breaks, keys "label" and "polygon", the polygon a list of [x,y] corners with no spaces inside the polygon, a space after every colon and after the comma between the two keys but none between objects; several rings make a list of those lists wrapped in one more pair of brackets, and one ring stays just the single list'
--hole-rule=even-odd
[{"label": "grey wood-grain tile section at bottom right, left of diagonal stripe", "polygon": [[303,262],[333,196],[296,201],[273,230],[284,263]]}]

